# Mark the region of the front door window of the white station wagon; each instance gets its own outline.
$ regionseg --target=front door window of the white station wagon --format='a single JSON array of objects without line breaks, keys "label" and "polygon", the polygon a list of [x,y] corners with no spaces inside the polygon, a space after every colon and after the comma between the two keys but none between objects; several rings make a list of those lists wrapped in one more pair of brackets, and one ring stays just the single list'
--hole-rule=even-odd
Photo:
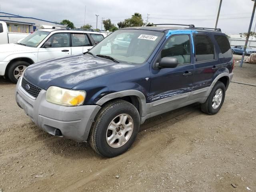
[{"label": "front door window of the white station wagon", "polygon": [[46,42],[51,42],[52,47],[69,47],[69,33],[53,34]]}]

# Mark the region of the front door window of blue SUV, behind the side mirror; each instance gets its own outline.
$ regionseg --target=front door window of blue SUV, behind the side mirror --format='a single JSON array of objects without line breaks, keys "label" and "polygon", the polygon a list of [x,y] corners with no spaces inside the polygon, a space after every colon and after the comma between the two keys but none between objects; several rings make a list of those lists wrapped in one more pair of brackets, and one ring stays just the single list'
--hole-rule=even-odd
[{"label": "front door window of blue SUV, behind the side mirror", "polygon": [[172,36],[165,44],[161,57],[174,57],[179,65],[188,64],[191,61],[189,35]]}]

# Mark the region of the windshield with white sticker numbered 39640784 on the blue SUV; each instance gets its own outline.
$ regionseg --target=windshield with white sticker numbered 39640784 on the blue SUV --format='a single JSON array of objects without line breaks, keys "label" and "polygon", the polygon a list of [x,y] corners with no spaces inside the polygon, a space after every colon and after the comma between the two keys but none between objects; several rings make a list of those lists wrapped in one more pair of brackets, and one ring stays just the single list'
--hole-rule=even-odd
[{"label": "windshield with white sticker numbered 39640784 on the blue SUV", "polygon": [[111,57],[119,62],[144,63],[161,40],[163,32],[149,30],[118,30],[89,52],[94,56]]}]

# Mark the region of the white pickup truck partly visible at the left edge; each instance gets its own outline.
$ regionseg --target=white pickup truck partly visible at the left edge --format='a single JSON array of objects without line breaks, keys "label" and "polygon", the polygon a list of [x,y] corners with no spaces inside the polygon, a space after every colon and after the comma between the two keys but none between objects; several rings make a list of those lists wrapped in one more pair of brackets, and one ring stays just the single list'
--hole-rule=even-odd
[{"label": "white pickup truck partly visible at the left edge", "polygon": [[29,33],[8,32],[6,23],[0,21],[0,44],[16,43],[28,35]]}]

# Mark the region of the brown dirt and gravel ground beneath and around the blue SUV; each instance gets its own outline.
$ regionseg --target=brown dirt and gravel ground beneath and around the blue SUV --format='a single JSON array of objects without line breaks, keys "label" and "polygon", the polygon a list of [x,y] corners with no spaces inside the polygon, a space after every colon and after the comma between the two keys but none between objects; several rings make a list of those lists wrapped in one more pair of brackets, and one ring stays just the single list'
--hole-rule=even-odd
[{"label": "brown dirt and gravel ground beneath and around the blue SUV", "polygon": [[[256,84],[256,65],[233,80]],[[115,158],[39,130],[14,89],[0,79],[0,192],[256,192],[254,86],[231,83],[214,116],[194,104],[147,120]]]}]

